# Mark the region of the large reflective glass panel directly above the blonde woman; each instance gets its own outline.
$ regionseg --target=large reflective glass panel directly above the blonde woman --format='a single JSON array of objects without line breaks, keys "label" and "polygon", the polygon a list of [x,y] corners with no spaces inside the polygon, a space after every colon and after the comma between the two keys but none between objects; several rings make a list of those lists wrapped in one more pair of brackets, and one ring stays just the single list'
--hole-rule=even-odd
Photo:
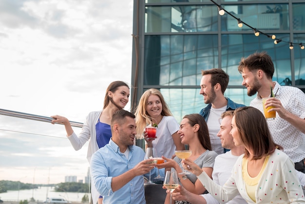
[{"label": "large reflective glass panel directly above the blonde woman", "polygon": [[198,85],[218,67],[217,35],[145,36],[144,85]]}]

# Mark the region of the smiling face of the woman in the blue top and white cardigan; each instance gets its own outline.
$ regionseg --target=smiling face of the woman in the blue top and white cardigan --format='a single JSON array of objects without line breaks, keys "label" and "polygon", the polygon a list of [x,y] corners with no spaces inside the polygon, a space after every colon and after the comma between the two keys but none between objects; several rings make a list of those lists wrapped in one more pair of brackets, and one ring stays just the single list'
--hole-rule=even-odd
[{"label": "smiling face of the woman in the blue top and white cardigan", "polygon": [[129,102],[130,90],[127,86],[119,86],[114,92],[109,91],[108,96],[120,108],[124,108]]}]

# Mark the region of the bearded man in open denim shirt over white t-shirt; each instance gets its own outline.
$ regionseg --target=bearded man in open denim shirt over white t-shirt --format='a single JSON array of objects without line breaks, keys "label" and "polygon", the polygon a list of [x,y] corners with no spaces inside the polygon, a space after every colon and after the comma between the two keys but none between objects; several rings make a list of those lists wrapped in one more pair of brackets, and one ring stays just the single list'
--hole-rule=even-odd
[{"label": "bearded man in open denim shirt over white t-shirt", "polygon": [[208,104],[199,114],[206,120],[212,150],[218,154],[224,153],[224,148],[217,137],[219,131],[220,116],[227,110],[235,110],[238,107],[245,106],[231,101],[224,96],[229,83],[229,75],[222,69],[213,68],[201,71],[202,78],[200,81],[200,94],[203,95],[203,100]]}]

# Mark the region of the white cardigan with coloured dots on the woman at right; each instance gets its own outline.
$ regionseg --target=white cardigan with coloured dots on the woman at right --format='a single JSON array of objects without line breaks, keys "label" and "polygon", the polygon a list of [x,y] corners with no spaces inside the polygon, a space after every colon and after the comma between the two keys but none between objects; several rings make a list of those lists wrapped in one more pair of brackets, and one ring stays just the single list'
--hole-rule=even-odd
[{"label": "white cardigan with coloured dots on the woman at right", "polygon": [[[243,157],[244,155],[241,155],[238,158],[231,177],[223,186],[213,182],[205,172],[198,176],[200,182],[220,204],[230,201],[238,192],[249,204],[255,204],[249,198],[243,180]],[[304,193],[296,175],[294,163],[284,152],[276,149],[270,155],[258,182],[255,197],[257,204],[305,204]]]}]

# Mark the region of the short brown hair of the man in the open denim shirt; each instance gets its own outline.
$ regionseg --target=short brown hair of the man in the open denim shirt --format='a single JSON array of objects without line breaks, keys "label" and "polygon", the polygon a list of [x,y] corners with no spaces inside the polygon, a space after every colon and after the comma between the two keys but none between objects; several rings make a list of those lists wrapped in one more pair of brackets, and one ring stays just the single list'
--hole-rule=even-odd
[{"label": "short brown hair of the man in the open denim shirt", "polygon": [[211,75],[211,85],[212,87],[216,85],[216,83],[219,83],[221,86],[221,92],[222,94],[225,94],[225,91],[229,84],[229,75],[220,68],[213,68],[209,70],[201,70],[202,76],[204,75]]}]

